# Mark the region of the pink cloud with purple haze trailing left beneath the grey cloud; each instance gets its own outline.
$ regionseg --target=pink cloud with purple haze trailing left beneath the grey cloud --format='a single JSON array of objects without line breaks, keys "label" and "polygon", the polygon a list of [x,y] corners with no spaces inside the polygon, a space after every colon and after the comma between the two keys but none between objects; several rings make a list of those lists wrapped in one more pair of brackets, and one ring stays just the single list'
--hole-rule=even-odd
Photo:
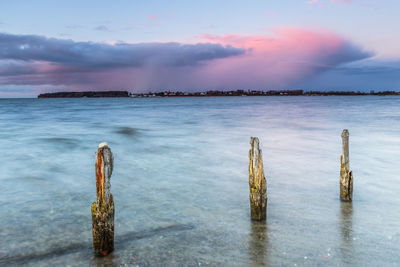
[{"label": "pink cloud with purple haze trailing left beneath the grey cloud", "polygon": [[277,29],[273,35],[203,35],[201,43],[245,49],[234,57],[178,68],[146,66],[99,75],[102,85],[138,90],[212,90],[296,88],[301,82],[342,63],[370,56],[329,31]]}]

